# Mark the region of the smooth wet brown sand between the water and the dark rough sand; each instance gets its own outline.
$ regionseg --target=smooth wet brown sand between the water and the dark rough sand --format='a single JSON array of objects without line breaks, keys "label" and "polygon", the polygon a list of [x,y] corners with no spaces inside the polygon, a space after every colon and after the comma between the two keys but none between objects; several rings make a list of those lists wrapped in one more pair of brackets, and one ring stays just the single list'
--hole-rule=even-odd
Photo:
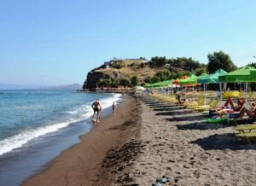
[{"label": "smooth wet brown sand between the water and the dark rough sand", "polygon": [[[122,148],[122,145],[134,136],[132,130],[134,127],[137,128],[137,125],[132,125],[131,119],[138,120],[140,117],[137,112],[134,112],[134,108],[137,109],[137,107],[139,106],[135,97],[123,97],[116,115],[110,114],[102,118],[102,121],[90,132],[79,137],[79,143],[67,148],[55,160],[50,161],[43,170],[26,179],[22,185],[65,185],[67,183],[95,185],[99,182],[102,183],[101,185],[108,185],[106,183],[113,183],[116,179],[115,174],[109,174],[103,162],[106,154],[111,154],[113,149]],[[136,117],[131,117],[132,113],[135,113]],[[105,162],[106,165],[108,166],[108,163]]]}]

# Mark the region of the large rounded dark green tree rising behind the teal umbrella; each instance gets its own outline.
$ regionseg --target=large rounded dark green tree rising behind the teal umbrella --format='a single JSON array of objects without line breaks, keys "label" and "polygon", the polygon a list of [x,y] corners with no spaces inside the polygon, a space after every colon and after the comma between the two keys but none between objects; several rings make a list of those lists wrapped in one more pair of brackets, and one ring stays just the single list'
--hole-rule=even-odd
[{"label": "large rounded dark green tree rising behind the teal umbrella", "polygon": [[236,65],[231,61],[230,55],[225,54],[223,51],[213,52],[207,55],[208,57],[208,72],[214,73],[219,68],[224,69],[226,72],[236,70]]}]

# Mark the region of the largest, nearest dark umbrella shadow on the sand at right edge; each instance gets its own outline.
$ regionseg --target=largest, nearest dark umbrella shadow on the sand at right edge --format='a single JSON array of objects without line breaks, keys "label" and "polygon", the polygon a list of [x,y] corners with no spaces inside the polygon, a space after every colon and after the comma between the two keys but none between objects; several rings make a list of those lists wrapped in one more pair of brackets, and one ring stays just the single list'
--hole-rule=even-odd
[{"label": "largest, nearest dark umbrella shadow on the sand at right edge", "polygon": [[201,146],[205,150],[224,150],[229,148],[230,150],[244,150],[253,149],[256,150],[256,142],[249,143],[241,141],[235,134],[215,134],[210,137],[195,140],[191,142]]}]

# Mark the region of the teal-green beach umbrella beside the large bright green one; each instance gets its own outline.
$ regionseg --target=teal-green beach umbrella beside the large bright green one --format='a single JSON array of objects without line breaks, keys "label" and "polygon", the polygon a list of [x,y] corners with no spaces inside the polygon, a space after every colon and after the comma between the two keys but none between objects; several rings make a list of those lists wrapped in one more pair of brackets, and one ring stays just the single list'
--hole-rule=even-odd
[{"label": "teal-green beach umbrella beside the large bright green one", "polygon": [[218,69],[214,73],[207,76],[202,76],[197,78],[198,84],[218,84],[218,76],[224,75],[226,72],[223,69]]}]

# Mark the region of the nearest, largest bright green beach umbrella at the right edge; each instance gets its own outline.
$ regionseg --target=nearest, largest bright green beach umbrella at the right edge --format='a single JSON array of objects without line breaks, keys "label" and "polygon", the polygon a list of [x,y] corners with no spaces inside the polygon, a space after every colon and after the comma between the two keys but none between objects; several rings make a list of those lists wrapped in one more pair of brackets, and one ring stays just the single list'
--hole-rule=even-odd
[{"label": "nearest, largest bright green beach umbrella at the right edge", "polygon": [[236,71],[219,76],[218,80],[225,83],[256,82],[256,68],[251,66],[241,67]]}]

